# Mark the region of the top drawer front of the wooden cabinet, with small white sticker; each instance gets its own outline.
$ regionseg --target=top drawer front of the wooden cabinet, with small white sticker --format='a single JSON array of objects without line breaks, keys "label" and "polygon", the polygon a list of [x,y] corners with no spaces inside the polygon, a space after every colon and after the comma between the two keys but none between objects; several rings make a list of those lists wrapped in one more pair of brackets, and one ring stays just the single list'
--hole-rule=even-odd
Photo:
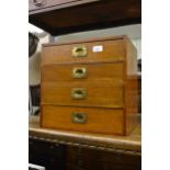
[{"label": "top drawer front of the wooden cabinet, with small white sticker", "polygon": [[122,61],[125,57],[123,39],[43,47],[42,66],[70,63]]}]

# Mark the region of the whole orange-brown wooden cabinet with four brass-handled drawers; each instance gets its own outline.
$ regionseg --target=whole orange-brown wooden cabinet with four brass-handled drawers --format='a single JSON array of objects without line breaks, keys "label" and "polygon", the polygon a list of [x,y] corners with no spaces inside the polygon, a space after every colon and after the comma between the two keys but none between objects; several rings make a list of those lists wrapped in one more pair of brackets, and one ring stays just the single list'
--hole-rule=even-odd
[{"label": "whole orange-brown wooden cabinet with four brass-handled drawers", "polygon": [[126,36],[44,45],[42,127],[131,133],[137,113],[136,54]]}]

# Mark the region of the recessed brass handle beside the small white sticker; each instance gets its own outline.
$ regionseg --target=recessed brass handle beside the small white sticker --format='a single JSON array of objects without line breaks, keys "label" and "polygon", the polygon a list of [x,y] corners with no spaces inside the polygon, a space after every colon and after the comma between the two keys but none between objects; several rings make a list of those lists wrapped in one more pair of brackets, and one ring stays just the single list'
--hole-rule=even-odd
[{"label": "recessed brass handle beside the small white sticker", "polygon": [[87,57],[88,55],[88,49],[86,46],[78,46],[73,47],[72,49],[72,57]]}]

